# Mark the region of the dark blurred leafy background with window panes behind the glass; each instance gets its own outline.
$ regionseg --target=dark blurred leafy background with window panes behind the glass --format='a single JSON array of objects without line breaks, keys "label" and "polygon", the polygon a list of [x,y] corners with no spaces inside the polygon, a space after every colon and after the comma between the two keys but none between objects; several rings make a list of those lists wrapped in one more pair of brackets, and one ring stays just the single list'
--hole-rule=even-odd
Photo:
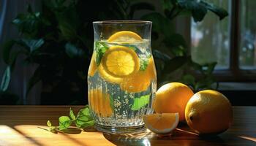
[{"label": "dark blurred leafy background with window panes behind the glass", "polygon": [[[7,8],[12,7],[12,2],[5,2]],[[1,7],[4,1],[2,3]],[[221,80],[214,72],[233,67],[230,31],[231,18],[236,13],[232,11],[231,1],[42,0],[25,3],[20,4],[24,9],[26,6],[25,12],[16,12],[15,17],[9,18],[10,22],[4,22],[18,35],[1,38],[0,104],[87,104],[86,78],[94,42],[92,22],[96,20],[153,22],[152,52],[158,88],[176,81],[184,82],[195,92],[217,89],[217,81]],[[239,38],[238,55],[241,69],[255,69],[255,21],[252,19],[255,4],[249,0],[239,3],[239,12],[244,16],[241,17],[240,30],[244,34]],[[18,75],[25,76],[19,81],[23,82],[21,86],[16,84],[19,85],[15,88],[22,88],[19,93],[12,89]]]}]

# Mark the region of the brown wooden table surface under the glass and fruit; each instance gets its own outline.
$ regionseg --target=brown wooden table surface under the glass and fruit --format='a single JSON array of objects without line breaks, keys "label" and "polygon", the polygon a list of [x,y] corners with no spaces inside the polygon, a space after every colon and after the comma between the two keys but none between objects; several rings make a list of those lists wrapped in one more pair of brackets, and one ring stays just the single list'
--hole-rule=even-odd
[{"label": "brown wooden table surface under the glass and fruit", "polygon": [[[58,134],[42,129],[47,128],[47,120],[57,125],[59,116],[69,114],[69,107],[0,106],[0,145],[256,145],[256,107],[233,107],[233,125],[218,137],[198,137],[184,124],[169,137],[158,137],[149,131],[121,136],[94,129],[70,128],[67,133]],[[82,107],[72,108],[77,113]]]}]

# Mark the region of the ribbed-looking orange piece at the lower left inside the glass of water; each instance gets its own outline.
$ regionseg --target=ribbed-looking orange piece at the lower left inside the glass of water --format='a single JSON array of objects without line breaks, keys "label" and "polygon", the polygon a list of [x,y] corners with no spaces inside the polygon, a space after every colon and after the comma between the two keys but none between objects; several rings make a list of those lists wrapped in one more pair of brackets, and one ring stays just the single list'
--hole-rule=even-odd
[{"label": "ribbed-looking orange piece at the lower left inside the glass of water", "polygon": [[91,110],[102,117],[109,117],[113,111],[110,106],[110,95],[103,93],[101,88],[91,89],[89,91],[89,100]]}]

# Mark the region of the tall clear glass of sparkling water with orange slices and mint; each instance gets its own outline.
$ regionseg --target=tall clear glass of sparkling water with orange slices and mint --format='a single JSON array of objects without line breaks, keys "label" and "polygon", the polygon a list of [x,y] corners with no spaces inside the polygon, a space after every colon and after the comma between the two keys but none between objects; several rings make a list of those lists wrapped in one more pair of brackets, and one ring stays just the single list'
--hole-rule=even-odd
[{"label": "tall clear glass of sparkling water with orange slices and mint", "polygon": [[143,115],[153,112],[157,91],[151,24],[140,20],[93,23],[88,94],[99,131],[125,134],[145,130]]}]

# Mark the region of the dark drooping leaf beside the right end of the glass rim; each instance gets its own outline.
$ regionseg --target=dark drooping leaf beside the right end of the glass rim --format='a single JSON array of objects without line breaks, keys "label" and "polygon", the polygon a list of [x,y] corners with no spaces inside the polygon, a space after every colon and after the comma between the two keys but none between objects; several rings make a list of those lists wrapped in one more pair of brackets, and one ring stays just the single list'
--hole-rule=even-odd
[{"label": "dark drooping leaf beside the right end of the glass rim", "polygon": [[162,33],[165,37],[170,38],[170,34],[173,32],[173,24],[167,18],[165,18],[159,12],[151,12],[149,14],[143,15],[142,20],[150,20],[154,23],[152,26],[152,31]]}]

